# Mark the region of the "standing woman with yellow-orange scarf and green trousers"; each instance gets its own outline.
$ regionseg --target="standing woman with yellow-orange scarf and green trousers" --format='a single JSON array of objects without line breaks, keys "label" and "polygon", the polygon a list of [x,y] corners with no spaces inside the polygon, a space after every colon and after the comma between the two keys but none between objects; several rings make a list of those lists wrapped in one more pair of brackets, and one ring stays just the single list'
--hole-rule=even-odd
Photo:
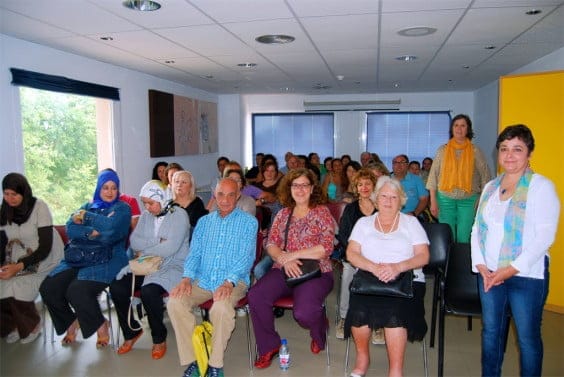
[{"label": "standing woman with yellow-orange scarf and green trousers", "polygon": [[456,242],[470,242],[477,199],[491,179],[482,151],[472,144],[472,121],[458,114],[450,123],[450,140],[437,150],[427,189],[431,214],[452,229]]}]

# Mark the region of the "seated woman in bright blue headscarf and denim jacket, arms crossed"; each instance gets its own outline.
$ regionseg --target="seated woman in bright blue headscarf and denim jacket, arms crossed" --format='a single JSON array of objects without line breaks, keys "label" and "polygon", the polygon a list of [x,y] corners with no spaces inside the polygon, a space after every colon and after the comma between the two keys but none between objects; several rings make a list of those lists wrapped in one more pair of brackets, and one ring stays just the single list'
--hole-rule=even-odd
[{"label": "seated woman in bright blue headscarf and denim jacket, arms crossed", "polygon": [[125,243],[130,222],[131,209],[119,200],[117,174],[102,171],[92,202],[72,214],[66,227],[71,243],[95,246],[108,253],[109,259],[84,267],[73,267],[63,260],[39,288],[57,334],[67,332],[63,345],[74,343],[79,328],[84,339],[97,332],[96,348],[108,345],[109,325],[98,296],[127,265]]}]

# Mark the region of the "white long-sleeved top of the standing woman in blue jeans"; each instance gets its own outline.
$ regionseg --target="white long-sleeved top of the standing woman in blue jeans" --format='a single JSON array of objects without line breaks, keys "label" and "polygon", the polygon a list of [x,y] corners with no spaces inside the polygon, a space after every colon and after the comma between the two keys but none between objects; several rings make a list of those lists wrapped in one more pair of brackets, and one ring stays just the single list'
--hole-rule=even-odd
[{"label": "white long-sleeved top of the standing woman in blue jeans", "polygon": [[[488,182],[484,192],[491,184],[492,181]],[[474,222],[471,236],[472,271],[478,272],[476,268],[478,264],[486,265],[491,271],[497,270],[503,241],[503,221],[508,205],[509,200],[505,202],[499,200],[498,189],[490,196],[484,207],[483,216],[488,226],[485,240],[485,258],[478,241],[478,226]],[[522,251],[511,262],[511,266],[519,271],[517,276],[544,279],[544,257],[545,255],[549,256],[548,249],[554,242],[559,214],[560,201],[556,195],[554,184],[540,174],[533,174],[527,193]]]}]

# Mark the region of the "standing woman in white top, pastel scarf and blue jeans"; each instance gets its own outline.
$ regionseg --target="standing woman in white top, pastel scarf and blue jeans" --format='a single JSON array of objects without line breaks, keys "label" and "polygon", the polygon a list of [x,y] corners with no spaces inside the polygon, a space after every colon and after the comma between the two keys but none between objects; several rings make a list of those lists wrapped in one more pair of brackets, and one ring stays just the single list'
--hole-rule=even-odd
[{"label": "standing woman in white top, pastel scarf and blue jeans", "polygon": [[548,249],[560,203],[553,183],[533,173],[535,140],[515,125],[496,148],[504,173],[484,187],[472,228],[472,268],[482,302],[482,375],[501,375],[508,315],[517,328],[522,376],[542,374],[541,320],[548,295]]}]

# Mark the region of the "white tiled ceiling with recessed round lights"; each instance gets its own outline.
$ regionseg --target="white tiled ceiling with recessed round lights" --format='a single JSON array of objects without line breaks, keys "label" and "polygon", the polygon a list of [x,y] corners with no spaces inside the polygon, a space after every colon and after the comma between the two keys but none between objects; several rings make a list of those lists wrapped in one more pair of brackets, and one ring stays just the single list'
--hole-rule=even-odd
[{"label": "white tiled ceiling with recessed round lights", "polygon": [[564,46],[564,0],[157,1],[0,0],[0,33],[218,94],[468,91]]}]

